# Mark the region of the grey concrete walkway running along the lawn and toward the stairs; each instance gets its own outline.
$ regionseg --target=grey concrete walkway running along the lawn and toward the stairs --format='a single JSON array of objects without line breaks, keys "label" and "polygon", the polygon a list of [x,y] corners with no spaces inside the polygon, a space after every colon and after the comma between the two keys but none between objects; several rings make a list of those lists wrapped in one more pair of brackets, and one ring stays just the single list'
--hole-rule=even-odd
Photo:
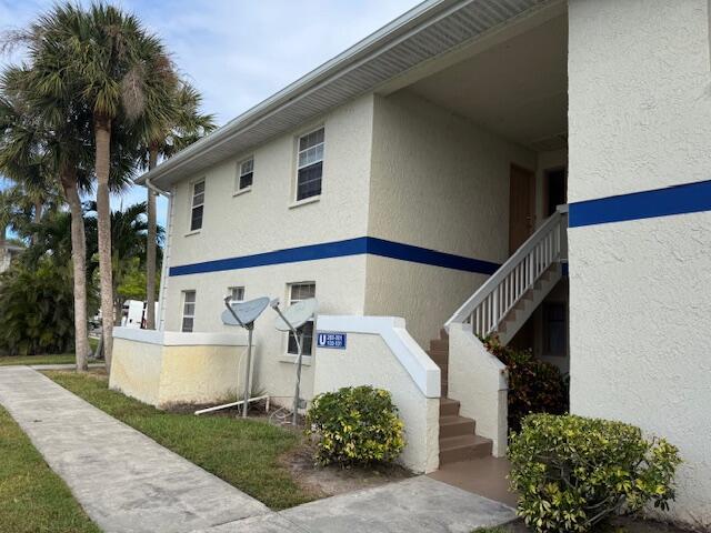
[{"label": "grey concrete walkway running along the lawn and toward the stairs", "polygon": [[469,533],[514,517],[427,476],[273,513],[28,366],[0,368],[0,403],[106,532]]}]

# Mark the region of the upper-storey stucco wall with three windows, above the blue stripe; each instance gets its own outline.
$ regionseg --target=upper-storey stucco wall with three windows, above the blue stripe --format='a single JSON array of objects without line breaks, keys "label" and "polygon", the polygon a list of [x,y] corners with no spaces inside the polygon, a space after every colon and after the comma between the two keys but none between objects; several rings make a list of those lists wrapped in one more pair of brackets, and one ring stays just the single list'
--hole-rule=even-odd
[{"label": "upper-storey stucco wall with three windows, above the blue stripe", "polygon": [[[174,189],[171,265],[338,241],[365,234],[372,97],[181,181]],[[299,134],[324,127],[320,200],[292,207]],[[254,157],[251,191],[234,195],[237,163]],[[191,183],[206,179],[202,230],[189,233]]]}]

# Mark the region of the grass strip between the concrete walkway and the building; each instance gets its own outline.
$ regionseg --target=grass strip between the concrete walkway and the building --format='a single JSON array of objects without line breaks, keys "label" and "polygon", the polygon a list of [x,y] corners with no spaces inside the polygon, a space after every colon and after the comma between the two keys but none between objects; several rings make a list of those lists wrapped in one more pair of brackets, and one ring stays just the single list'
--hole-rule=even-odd
[{"label": "grass strip between the concrete walkway and the building", "polygon": [[110,391],[106,375],[52,371],[46,374],[156,442],[202,466],[274,510],[313,500],[279,456],[301,436],[267,422],[233,416],[196,416],[159,411]]}]

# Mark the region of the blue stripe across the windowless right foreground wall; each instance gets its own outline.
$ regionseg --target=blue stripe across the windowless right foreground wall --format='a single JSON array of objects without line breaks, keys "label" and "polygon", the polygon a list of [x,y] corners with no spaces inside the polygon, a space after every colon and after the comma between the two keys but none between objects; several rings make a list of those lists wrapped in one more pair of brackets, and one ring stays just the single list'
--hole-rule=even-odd
[{"label": "blue stripe across the windowless right foreground wall", "polygon": [[570,228],[711,211],[711,181],[573,202]]}]

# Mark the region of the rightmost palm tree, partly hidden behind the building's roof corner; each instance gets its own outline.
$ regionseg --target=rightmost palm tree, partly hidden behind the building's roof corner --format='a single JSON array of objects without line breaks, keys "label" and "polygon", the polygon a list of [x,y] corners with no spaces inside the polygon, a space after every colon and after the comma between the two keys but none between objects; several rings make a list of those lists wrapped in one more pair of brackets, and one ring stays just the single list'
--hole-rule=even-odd
[{"label": "rightmost palm tree, partly hidden behind the building's roof corner", "polygon": [[[200,112],[202,95],[190,83],[181,80],[176,88],[173,99],[166,110],[169,119],[164,123],[141,121],[143,132],[143,167],[152,170],[159,157],[168,159],[183,148],[192,144],[216,128],[214,115]],[[148,249],[146,250],[146,328],[156,329],[156,198],[158,193],[148,189]]]}]

